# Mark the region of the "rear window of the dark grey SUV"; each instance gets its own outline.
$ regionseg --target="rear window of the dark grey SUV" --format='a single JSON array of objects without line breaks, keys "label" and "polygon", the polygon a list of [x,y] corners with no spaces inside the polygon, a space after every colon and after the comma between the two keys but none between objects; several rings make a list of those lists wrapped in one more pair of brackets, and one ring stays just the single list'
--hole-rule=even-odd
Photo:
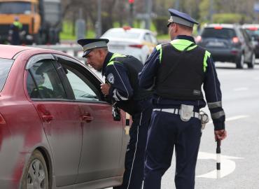
[{"label": "rear window of the dark grey SUV", "polygon": [[202,32],[202,38],[233,38],[237,36],[234,29],[222,28],[205,28]]}]

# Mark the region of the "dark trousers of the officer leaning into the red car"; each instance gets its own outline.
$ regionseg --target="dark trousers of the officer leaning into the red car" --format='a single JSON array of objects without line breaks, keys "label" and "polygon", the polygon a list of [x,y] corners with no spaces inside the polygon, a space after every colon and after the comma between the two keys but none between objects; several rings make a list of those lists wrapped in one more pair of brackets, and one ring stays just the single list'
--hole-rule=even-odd
[{"label": "dark trousers of the officer leaning into the red car", "polygon": [[122,186],[115,189],[141,189],[144,180],[144,157],[148,127],[151,120],[153,106],[151,99],[138,102],[139,112],[132,115],[130,127],[130,142],[125,155],[125,172]]}]

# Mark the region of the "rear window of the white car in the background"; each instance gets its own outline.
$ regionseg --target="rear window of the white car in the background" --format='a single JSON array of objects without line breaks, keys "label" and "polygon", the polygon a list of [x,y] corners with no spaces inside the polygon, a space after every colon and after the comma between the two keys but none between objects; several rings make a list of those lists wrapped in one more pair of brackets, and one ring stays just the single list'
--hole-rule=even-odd
[{"label": "rear window of the white car in the background", "polygon": [[139,38],[140,34],[134,31],[107,31],[102,38]]}]

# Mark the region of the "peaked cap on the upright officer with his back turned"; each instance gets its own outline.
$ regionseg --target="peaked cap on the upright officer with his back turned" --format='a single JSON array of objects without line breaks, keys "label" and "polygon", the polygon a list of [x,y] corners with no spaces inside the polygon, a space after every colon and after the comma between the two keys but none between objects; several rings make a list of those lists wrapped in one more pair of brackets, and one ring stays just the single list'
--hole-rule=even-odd
[{"label": "peaked cap on the upright officer with his back turned", "polygon": [[171,23],[177,23],[187,27],[193,27],[195,24],[199,25],[199,22],[191,18],[190,15],[186,13],[182,13],[174,8],[169,8],[168,11],[171,14],[171,17],[168,20],[167,27],[169,27]]}]

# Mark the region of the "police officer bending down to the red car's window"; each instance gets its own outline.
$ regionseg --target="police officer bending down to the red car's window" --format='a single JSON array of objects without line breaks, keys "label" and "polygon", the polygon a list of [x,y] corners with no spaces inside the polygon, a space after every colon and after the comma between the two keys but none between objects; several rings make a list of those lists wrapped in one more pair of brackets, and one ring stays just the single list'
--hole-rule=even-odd
[{"label": "police officer bending down to the red car's window", "polygon": [[83,57],[94,69],[102,71],[106,83],[101,85],[104,95],[116,102],[116,106],[132,116],[130,142],[125,155],[123,185],[115,188],[140,189],[144,178],[144,151],[148,125],[151,118],[151,92],[141,90],[138,73],[143,64],[132,56],[109,52],[108,39],[80,39]]}]

